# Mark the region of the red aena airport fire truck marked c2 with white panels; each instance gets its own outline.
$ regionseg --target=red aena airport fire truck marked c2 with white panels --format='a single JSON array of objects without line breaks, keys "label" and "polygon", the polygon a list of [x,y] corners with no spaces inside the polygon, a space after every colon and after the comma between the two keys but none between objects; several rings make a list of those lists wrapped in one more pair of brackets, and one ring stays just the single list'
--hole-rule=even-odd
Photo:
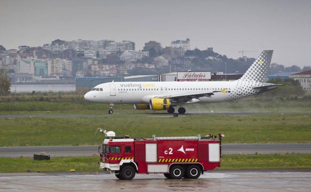
[{"label": "red aena airport fire truck marked c2 with white panels", "polygon": [[100,168],[120,180],[132,180],[135,174],[164,174],[167,179],[197,179],[204,171],[220,167],[221,138],[153,137],[133,139],[115,137],[113,131],[98,128],[107,139],[99,147]]}]

